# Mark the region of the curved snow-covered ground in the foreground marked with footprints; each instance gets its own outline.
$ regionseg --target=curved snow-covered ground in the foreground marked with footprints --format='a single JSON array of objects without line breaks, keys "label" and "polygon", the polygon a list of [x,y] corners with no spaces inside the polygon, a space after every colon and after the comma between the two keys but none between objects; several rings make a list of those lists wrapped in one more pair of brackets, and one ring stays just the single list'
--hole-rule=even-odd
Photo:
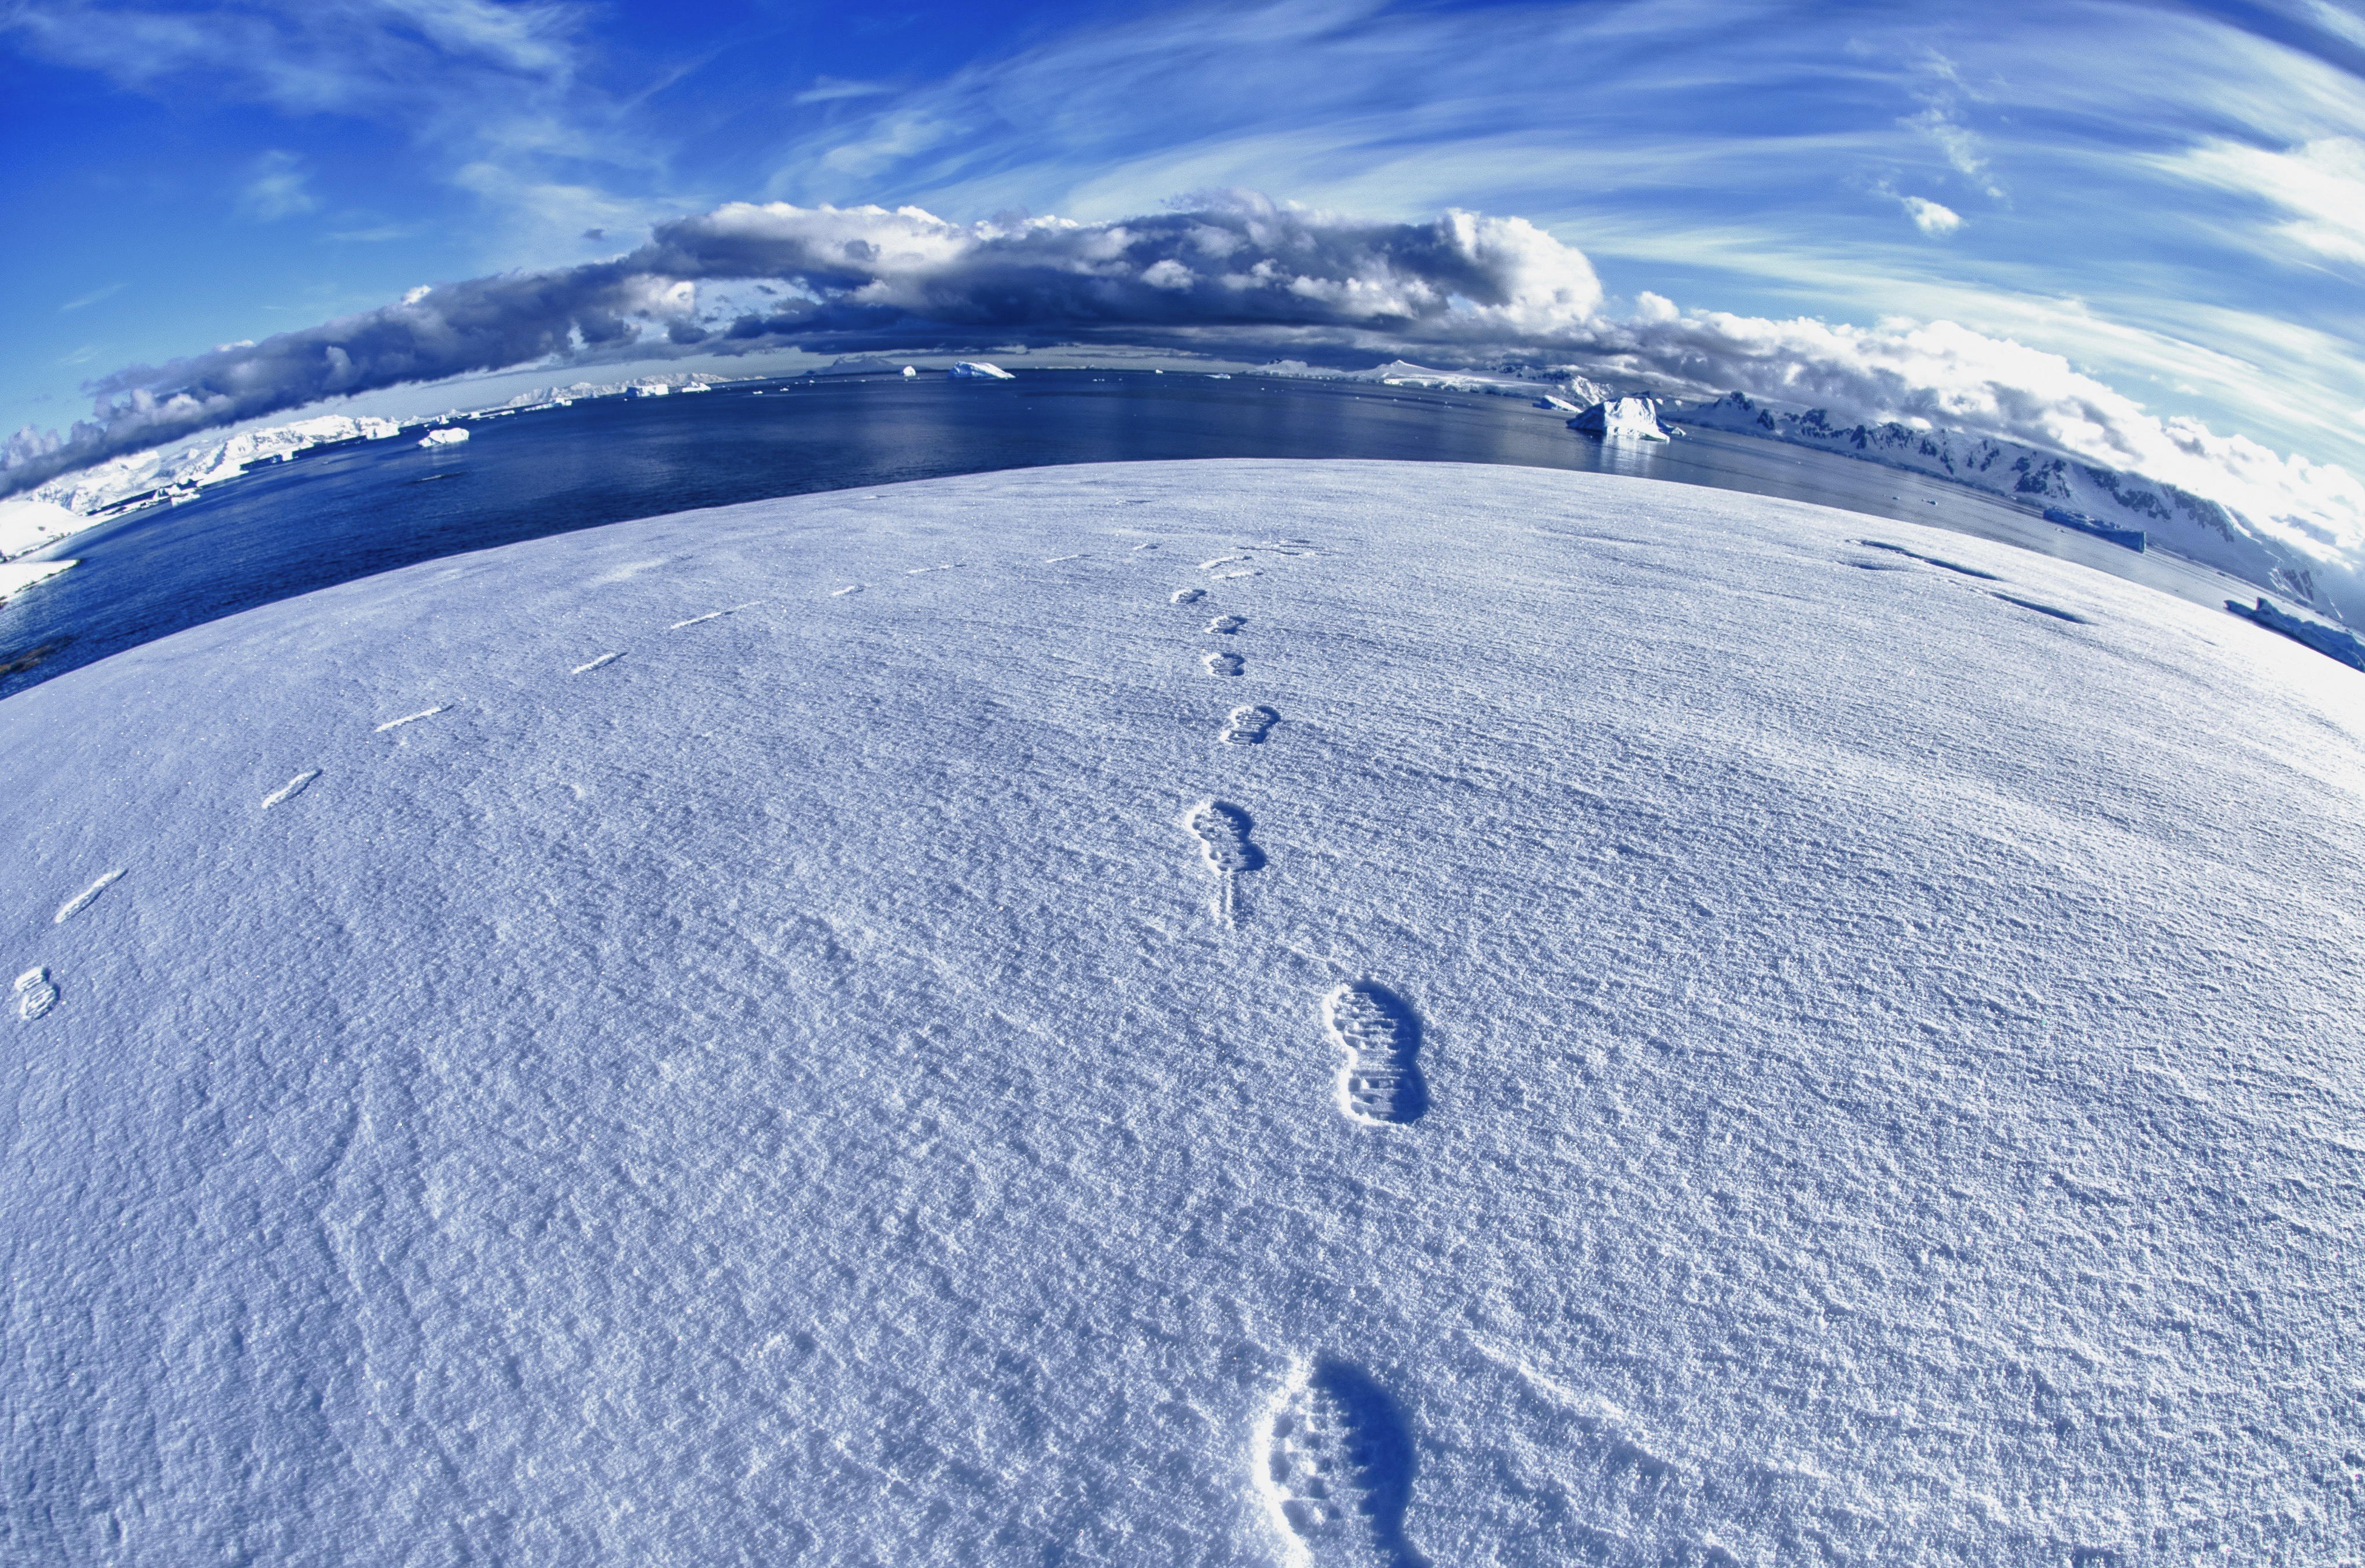
[{"label": "curved snow-covered ground in the foreground marked with footprints", "polygon": [[2360,681],[1426,464],[135,648],[0,705],[0,1561],[2353,1561]]}]

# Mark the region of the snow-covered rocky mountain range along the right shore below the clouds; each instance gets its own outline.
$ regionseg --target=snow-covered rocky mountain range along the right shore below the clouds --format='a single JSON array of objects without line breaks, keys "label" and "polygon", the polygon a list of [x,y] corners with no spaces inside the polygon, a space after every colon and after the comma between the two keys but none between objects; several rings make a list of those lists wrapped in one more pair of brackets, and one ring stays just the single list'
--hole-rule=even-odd
[{"label": "snow-covered rocky mountain range along the right shore below the clouds", "polygon": [[2306,556],[2230,506],[2117,468],[2081,464],[2017,442],[1887,423],[1838,423],[1826,409],[1781,412],[1743,393],[1670,407],[1703,430],[1736,430],[1911,468],[2034,508],[2079,513],[2202,561],[2320,615],[2365,627],[2365,577],[2337,556]]}]

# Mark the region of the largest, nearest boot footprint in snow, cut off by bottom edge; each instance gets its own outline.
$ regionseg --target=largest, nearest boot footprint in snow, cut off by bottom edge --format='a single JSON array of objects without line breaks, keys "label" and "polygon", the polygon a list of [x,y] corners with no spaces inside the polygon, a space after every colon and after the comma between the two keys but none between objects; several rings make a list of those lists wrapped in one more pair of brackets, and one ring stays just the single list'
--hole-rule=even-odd
[{"label": "largest, nearest boot footprint in snow, cut off by bottom edge", "polygon": [[1412,1431],[1362,1367],[1291,1369],[1258,1424],[1256,1490],[1303,1568],[1410,1568]]}]

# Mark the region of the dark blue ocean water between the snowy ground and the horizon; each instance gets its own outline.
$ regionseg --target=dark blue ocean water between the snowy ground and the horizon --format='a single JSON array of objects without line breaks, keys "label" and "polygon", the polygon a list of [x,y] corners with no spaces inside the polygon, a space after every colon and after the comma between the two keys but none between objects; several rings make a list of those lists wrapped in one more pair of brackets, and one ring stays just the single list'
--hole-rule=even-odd
[{"label": "dark blue ocean water between the snowy ground and the horizon", "polygon": [[52,551],[78,568],[0,608],[0,669],[14,667],[0,695],[253,605],[513,539],[948,473],[1194,456],[1625,473],[1932,523],[2211,605],[2228,596],[2214,572],[2133,556],[1953,485],[1741,435],[1603,445],[1516,397],[1147,371],[840,376],[601,397],[485,421],[438,452],[414,440],[317,449],[90,530]]}]

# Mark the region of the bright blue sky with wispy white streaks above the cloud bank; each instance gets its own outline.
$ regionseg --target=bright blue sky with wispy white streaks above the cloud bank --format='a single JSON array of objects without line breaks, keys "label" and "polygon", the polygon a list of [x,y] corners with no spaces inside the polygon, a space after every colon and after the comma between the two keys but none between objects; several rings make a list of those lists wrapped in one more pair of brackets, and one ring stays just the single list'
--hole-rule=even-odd
[{"label": "bright blue sky with wispy white streaks above the cloud bank", "polygon": [[1956,322],[2365,473],[2360,73],[2330,0],[0,0],[0,419],[726,201],[1256,189],[1523,218],[1611,317]]}]

